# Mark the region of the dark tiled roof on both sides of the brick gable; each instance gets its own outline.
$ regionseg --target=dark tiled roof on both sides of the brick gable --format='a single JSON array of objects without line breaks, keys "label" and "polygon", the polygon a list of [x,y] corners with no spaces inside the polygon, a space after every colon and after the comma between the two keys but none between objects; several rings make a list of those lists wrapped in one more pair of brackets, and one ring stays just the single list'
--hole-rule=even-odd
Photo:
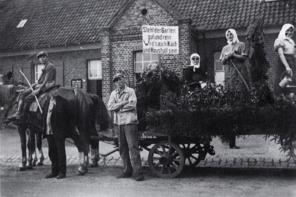
[{"label": "dark tiled roof on both sides of the brick gable", "polygon": [[[4,0],[8,1],[8,0]],[[120,13],[124,0],[12,0],[1,18],[0,51],[100,41],[101,27]],[[163,1],[160,1],[163,2]],[[166,0],[198,30],[247,27],[263,14],[265,25],[296,22],[296,0]],[[23,28],[16,28],[28,19]],[[1,30],[1,29],[0,29]]]}]

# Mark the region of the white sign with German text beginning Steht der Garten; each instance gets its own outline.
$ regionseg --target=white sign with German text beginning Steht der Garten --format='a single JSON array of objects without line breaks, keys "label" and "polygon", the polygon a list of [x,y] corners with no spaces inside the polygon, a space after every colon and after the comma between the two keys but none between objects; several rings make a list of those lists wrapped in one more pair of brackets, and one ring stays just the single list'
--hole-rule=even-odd
[{"label": "white sign with German text beginning Steht der Garten", "polygon": [[179,54],[178,26],[142,25],[143,53]]}]

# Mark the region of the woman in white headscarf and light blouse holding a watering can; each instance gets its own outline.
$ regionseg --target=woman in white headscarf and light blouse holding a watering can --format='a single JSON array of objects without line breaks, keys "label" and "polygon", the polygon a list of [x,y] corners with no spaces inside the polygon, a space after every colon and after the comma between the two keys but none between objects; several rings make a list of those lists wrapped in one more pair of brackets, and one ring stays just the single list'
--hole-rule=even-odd
[{"label": "woman in white headscarf and light blouse holding a watering can", "polygon": [[277,72],[276,72],[276,84],[275,92],[278,93],[289,93],[289,89],[281,88],[279,82],[281,81],[281,74],[287,71],[289,77],[292,77],[292,83],[290,85],[295,85],[296,83],[296,64],[295,64],[295,54],[296,46],[295,42],[292,40],[292,35],[294,33],[294,26],[291,24],[285,24],[279,32],[278,38],[274,41],[274,49],[278,52],[277,58]]}]

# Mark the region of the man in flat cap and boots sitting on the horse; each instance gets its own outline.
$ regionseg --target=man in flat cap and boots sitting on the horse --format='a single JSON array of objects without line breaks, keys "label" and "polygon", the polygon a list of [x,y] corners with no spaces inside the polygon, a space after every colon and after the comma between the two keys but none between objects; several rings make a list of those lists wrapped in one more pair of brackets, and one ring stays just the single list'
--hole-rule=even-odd
[{"label": "man in flat cap and boots sitting on the horse", "polygon": [[30,105],[35,100],[35,96],[40,95],[46,90],[47,82],[55,81],[56,79],[57,71],[54,65],[48,61],[48,54],[45,51],[41,51],[38,53],[37,58],[41,64],[43,64],[42,74],[38,78],[38,82],[32,85],[34,91],[28,88],[22,92],[17,112],[12,116],[7,117],[7,122],[20,120],[22,117],[26,118]]}]

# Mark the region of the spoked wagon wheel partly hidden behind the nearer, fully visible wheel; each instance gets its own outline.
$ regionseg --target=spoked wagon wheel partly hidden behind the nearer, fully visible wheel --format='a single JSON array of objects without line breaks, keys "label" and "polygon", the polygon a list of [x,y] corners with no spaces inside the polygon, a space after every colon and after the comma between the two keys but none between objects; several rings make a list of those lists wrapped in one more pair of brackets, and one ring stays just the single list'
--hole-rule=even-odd
[{"label": "spoked wagon wheel partly hidden behind the nearer, fully visible wheel", "polygon": [[203,144],[180,144],[184,152],[185,164],[195,167],[205,159],[206,152]]}]

